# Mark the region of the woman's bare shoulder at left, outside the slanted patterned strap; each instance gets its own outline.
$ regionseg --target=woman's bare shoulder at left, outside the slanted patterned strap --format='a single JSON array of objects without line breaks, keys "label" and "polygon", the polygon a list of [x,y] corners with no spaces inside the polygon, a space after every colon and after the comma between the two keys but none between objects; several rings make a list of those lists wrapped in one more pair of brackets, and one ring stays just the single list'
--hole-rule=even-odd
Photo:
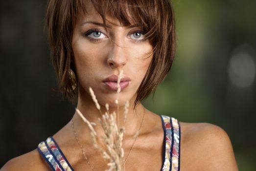
[{"label": "woman's bare shoulder at left, outside the slanted patterned strap", "polygon": [[9,160],[0,171],[50,171],[47,162],[37,150]]}]

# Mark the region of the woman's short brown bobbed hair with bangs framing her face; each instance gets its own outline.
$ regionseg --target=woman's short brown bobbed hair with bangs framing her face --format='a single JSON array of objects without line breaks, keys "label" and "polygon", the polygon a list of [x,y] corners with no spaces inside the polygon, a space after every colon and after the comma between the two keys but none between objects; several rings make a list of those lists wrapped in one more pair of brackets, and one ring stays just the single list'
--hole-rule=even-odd
[{"label": "woman's short brown bobbed hair with bangs framing her face", "polygon": [[[153,58],[138,89],[135,105],[155,91],[171,68],[175,56],[174,13],[170,0],[91,0],[106,25],[106,15],[124,25],[139,25],[153,46]],[[59,90],[71,101],[77,91],[72,89],[69,69],[74,69],[71,47],[73,28],[79,12],[86,13],[84,0],[48,0],[46,14],[47,38],[51,61],[57,73]]]}]

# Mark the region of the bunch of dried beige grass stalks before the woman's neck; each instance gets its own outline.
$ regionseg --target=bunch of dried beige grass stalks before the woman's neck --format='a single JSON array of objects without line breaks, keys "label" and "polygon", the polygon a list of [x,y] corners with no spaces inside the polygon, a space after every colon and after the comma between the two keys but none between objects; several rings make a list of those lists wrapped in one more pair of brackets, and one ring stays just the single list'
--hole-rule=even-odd
[{"label": "bunch of dried beige grass stalks before the woman's neck", "polygon": [[[118,75],[117,80],[117,99],[115,100],[115,103],[117,104],[117,117],[119,116],[119,103],[118,103],[118,94],[121,91],[120,88],[120,80],[122,77],[123,72],[120,71]],[[99,110],[99,112],[102,114],[100,110],[100,105],[98,104],[98,101],[96,99],[96,96],[93,92],[93,89],[89,88],[90,94],[92,96],[93,102],[95,103],[96,108]],[[106,171],[122,171],[122,164],[124,162],[124,150],[122,148],[122,141],[123,136],[125,132],[125,128],[121,127],[119,128],[116,124],[116,112],[109,113],[109,105],[106,104],[106,112],[105,114],[102,114],[102,118],[98,118],[101,127],[104,130],[104,135],[101,137],[103,139],[104,144],[106,145],[106,150],[98,146],[98,142],[96,140],[96,131],[93,128],[94,123],[89,122],[84,115],[79,111],[79,109],[76,108],[77,113],[79,116],[83,119],[83,121],[88,125],[91,131],[91,137],[93,140],[93,147],[100,151],[102,157],[108,161],[108,170]],[[125,103],[124,106],[124,118],[123,121],[125,121],[128,113],[129,108],[129,102]],[[119,118],[117,118],[119,121]],[[125,170],[125,167],[124,167]]]}]

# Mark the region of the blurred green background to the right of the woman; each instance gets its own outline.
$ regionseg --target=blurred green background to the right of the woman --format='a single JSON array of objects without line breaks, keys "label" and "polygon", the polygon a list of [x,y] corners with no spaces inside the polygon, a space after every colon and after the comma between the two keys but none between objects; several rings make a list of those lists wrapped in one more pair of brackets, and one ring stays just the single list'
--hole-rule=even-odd
[{"label": "blurred green background to the right of the woman", "polygon": [[[256,1],[173,0],[173,5],[175,61],[163,83],[143,104],[181,122],[208,122],[224,128],[239,170],[256,171],[255,72],[250,71],[254,80],[245,87],[234,85],[229,75],[236,49],[248,53],[255,68]],[[245,72],[246,65],[240,70]]]}]

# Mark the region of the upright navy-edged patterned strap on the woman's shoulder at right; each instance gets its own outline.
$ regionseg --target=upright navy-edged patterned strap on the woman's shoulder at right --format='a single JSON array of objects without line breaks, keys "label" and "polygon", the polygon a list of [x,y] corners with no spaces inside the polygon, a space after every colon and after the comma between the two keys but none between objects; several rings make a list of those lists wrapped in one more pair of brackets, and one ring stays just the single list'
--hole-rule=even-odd
[{"label": "upright navy-edged patterned strap on the woman's shoulder at right", "polygon": [[162,171],[180,171],[180,125],[177,119],[162,115],[165,127],[165,160]]}]

